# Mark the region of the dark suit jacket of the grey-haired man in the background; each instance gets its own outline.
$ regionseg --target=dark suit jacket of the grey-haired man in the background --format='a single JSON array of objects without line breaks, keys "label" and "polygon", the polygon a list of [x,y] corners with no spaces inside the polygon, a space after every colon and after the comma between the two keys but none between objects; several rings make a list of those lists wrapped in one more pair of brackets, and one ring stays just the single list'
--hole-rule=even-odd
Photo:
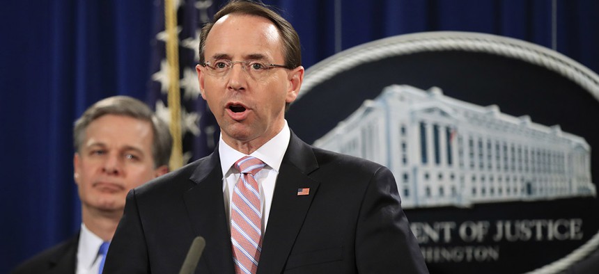
[{"label": "dark suit jacket of the grey-haired man in the background", "polygon": [[63,241],[52,248],[24,261],[11,273],[13,274],[68,274],[75,273],[77,264],[77,245],[79,234]]}]

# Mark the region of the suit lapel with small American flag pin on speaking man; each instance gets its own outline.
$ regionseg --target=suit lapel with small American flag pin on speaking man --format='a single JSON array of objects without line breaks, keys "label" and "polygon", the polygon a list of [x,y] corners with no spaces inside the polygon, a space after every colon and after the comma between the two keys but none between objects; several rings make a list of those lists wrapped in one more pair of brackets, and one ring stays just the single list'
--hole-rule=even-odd
[{"label": "suit lapel with small American flag pin on speaking man", "polygon": [[[299,229],[318,191],[320,183],[307,176],[316,168],[318,163],[311,147],[292,132],[274,188],[258,273],[283,272]],[[309,195],[297,195],[298,188],[309,188]]]}]

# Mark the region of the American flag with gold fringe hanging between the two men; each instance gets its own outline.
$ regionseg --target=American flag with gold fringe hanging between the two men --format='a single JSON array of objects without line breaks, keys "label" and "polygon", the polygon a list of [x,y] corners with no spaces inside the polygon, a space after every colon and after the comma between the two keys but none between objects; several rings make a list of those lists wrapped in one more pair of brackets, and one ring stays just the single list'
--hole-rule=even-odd
[{"label": "American flag with gold fringe hanging between the two men", "polygon": [[[221,1],[160,0],[155,1],[155,5],[157,20],[155,22],[155,39],[152,41],[153,67],[151,69],[153,74],[150,80],[148,104],[155,108],[160,118],[171,124],[171,109],[177,107],[169,106],[169,88],[173,85],[175,88],[179,87],[180,145],[182,147],[180,162],[185,165],[189,161],[210,154],[215,148],[219,134],[216,120],[201,98],[195,66],[199,62],[200,29],[212,19],[214,13],[221,6]],[[172,8],[165,5],[171,5]],[[167,12],[172,10],[172,12],[165,15],[165,10]],[[173,30],[176,31],[178,39],[170,40],[171,43],[178,44],[178,47],[173,47],[176,49],[175,54],[178,54],[178,58],[171,59],[171,61],[178,61],[178,66],[176,66],[178,73],[176,74],[171,71],[172,63],[167,61],[166,54],[169,24],[165,24],[165,22],[169,22],[169,17],[171,20],[176,18],[176,29],[173,28]],[[177,74],[178,77],[176,77]],[[173,80],[176,78],[178,81]],[[173,148],[176,149],[176,145]],[[176,155],[173,154],[174,157],[177,157]],[[178,168],[178,166],[173,166],[173,159],[171,159],[171,169]]]}]

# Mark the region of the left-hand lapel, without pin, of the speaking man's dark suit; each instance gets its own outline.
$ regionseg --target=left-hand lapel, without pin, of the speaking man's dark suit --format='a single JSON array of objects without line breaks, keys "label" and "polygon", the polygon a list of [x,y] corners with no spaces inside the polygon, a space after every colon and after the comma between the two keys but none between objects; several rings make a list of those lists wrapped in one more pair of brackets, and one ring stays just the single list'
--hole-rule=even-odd
[{"label": "left-hand lapel, without pin, of the speaking man's dark suit", "polygon": [[212,273],[233,273],[218,150],[199,163],[189,179],[196,185],[183,195],[183,200],[194,232],[206,241],[199,264],[210,262],[207,266]]}]

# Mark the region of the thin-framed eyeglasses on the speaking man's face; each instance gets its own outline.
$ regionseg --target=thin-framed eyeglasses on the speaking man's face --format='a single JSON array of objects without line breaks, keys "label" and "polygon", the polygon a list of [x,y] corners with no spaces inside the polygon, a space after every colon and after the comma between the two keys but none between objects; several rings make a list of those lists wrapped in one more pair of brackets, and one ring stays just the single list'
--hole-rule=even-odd
[{"label": "thin-framed eyeglasses on the speaking man's face", "polygon": [[226,76],[235,64],[241,64],[242,70],[247,72],[247,74],[255,80],[268,78],[272,73],[271,70],[275,67],[287,68],[285,65],[267,64],[256,60],[231,61],[227,59],[218,59],[212,62],[204,62],[200,65],[207,68],[207,74],[222,77]]}]

